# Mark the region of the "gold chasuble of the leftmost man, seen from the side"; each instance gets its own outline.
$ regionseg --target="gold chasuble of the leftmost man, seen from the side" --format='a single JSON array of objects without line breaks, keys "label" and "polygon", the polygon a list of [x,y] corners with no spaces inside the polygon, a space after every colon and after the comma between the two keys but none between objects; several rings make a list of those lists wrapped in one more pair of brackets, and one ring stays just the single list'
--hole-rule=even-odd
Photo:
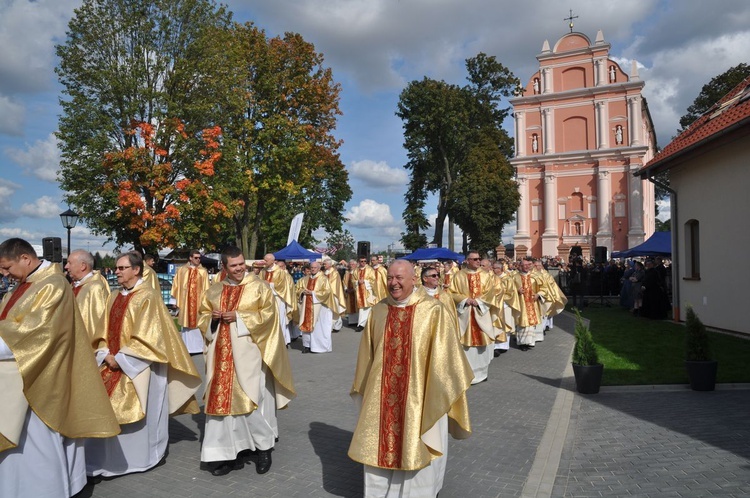
[{"label": "gold chasuble of the leftmost man, seen from the side", "polygon": [[27,407],[65,437],[120,432],[60,265],[43,264],[5,295],[0,338],[15,358],[0,362],[0,455],[20,443]]}]

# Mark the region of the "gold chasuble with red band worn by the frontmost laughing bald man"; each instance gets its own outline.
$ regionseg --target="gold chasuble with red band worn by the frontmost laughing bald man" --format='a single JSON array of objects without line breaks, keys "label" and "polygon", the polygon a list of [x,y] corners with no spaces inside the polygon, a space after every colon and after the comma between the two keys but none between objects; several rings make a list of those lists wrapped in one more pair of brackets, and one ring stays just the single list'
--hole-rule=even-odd
[{"label": "gold chasuble with red band worn by the frontmost laughing bald man", "polygon": [[473,377],[454,320],[423,288],[405,303],[379,302],[359,345],[351,394],[362,396],[362,409],[349,457],[386,469],[426,467],[441,453],[422,436],[443,415],[454,438],[471,434],[466,390]]}]

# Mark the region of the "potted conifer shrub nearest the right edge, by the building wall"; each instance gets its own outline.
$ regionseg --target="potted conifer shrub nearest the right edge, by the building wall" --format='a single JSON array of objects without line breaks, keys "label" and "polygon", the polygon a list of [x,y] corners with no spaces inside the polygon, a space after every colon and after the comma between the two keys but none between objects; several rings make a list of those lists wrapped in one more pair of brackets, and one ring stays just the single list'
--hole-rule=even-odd
[{"label": "potted conifer shrub nearest the right edge, by the building wall", "polygon": [[692,307],[687,309],[685,319],[687,368],[690,388],[693,391],[713,391],[716,387],[716,371],[719,362],[711,359],[708,332]]}]

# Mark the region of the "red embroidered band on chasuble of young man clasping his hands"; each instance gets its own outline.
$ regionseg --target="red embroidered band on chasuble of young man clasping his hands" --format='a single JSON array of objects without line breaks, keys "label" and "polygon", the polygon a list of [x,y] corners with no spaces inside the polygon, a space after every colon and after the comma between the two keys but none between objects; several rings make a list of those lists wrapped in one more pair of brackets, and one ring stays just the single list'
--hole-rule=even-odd
[{"label": "red embroidered band on chasuble of young man clasping his hands", "polygon": [[[221,292],[222,311],[236,311],[244,285],[225,285]],[[216,336],[216,359],[211,389],[206,401],[209,415],[229,415],[232,413],[232,390],[234,387],[234,359],[229,324],[221,322]]]}]

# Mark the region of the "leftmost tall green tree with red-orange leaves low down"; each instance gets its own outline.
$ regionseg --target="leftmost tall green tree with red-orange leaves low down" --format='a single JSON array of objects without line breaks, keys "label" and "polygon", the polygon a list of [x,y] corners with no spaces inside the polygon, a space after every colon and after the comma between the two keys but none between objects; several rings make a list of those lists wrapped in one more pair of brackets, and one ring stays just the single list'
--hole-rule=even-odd
[{"label": "leftmost tall green tree with red-orange leaves low down", "polygon": [[[145,228],[158,230],[165,216],[173,219],[169,210],[176,202],[162,189],[196,177],[201,130],[210,123],[189,112],[194,105],[187,106],[188,99],[202,92],[189,91],[200,82],[182,68],[203,30],[227,25],[230,18],[209,0],[84,0],[75,10],[65,42],[56,47],[63,85],[60,186],[93,233],[118,246],[152,252],[160,247],[158,237],[142,239],[133,217],[147,213]],[[177,147],[179,134],[162,128],[175,119],[193,145]],[[136,133],[144,125],[157,128],[150,151]],[[139,154],[142,166],[139,177],[126,172],[120,178],[142,200],[144,211],[133,216],[122,212],[119,188],[102,188],[112,180],[108,164],[129,160],[126,151]],[[186,219],[195,223],[194,217]],[[174,221],[179,233],[201,231]]]}]

